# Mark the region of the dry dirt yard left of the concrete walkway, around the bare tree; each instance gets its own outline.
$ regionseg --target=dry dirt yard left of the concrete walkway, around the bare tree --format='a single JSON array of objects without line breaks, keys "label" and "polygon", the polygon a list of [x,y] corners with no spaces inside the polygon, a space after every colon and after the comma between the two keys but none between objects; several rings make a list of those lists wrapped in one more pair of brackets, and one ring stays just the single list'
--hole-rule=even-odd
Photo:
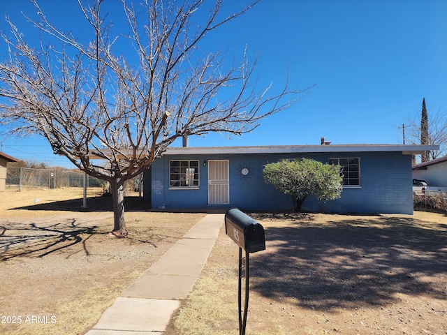
[{"label": "dry dirt yard left of the concrete walkway, around the bare tree", "polygon": [[204,214],[125,199],[129,237],[108,237],[111,198],[89,190],[0,192],[0,334],[85,334]]}]

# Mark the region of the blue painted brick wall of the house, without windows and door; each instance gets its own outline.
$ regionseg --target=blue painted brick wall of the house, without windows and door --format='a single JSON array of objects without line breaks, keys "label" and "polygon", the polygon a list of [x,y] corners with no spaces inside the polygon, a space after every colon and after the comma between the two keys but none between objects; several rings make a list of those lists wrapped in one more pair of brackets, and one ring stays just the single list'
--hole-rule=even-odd
[{"label": "blue painted brick wall of the house, without windows and door", "polygon": [[[411,187],[411,156],[399,151],[349,152],[318,154],[214,154],[163,155],[152,163],[152,208],[232,208],[244,210],[293,210],[288,195],[265,184],[263,166],[280,159],[312,158],[328,163],[329,158],[360,158],[361,185],[344,188],[342,197],[325,203],[309,197],[302,205],[305,211],[335,213],[402,213],[413,214]],[[169,161],[198,160],[199,187],[170,189]],[[208,161],[228,160],[230,203],[208,204]],[[205,166],[203,163],[205,162]],[[249,174],[242,175],[242,168]],[[148,190],[149,191],[149,190]],[[147,195],[145,195],[147,198]]]}]

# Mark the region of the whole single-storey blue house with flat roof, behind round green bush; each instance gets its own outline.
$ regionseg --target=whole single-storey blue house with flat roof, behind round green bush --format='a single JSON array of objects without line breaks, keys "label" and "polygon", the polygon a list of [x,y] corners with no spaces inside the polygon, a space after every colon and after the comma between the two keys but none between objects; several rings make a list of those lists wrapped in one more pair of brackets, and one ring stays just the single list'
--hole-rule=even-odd
[{"label": "whole single-storey blue house with flat roof, behind round green bush", "polygon": [[145,172],[144,196],[153,209],[293,210],[289,195],[265,184],[263,167],[281,159],[312,158],[344,166],[342,197],[303,211],[413,214],[411,155],[437,146],[350,144],[269,147],[172,147]]}]

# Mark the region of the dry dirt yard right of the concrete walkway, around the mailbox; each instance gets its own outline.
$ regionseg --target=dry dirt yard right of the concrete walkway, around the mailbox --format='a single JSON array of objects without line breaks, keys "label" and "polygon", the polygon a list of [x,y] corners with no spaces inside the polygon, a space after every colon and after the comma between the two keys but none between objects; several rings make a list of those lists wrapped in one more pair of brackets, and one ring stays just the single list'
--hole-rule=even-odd
[{"label": "dry dirt yard right of the concrete walkway, around the mailbox", "polygon": [[[247,335],[447,334],[446,216],[251,215]],[[239,334],[237,259],[221,230],[167,335]]]}]

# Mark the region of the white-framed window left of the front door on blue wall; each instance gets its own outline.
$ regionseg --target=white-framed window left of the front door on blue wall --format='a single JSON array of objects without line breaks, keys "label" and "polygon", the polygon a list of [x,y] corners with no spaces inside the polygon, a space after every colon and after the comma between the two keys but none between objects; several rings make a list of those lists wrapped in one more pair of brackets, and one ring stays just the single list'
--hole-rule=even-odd
[{"label": "white-framed window left of the front door on blue wall", "polygon": [[199,161],[169,161],[169,186],[198,188]]}]

